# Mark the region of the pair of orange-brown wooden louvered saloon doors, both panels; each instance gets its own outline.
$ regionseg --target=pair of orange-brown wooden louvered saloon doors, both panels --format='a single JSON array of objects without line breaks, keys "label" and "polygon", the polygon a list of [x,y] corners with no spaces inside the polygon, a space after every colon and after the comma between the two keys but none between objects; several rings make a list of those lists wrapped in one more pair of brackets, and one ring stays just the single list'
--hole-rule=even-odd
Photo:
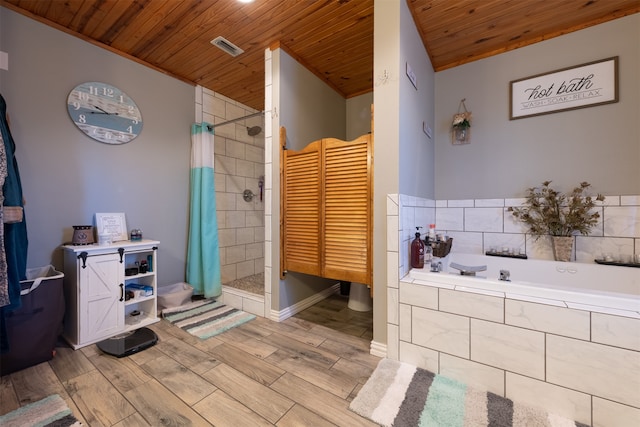
[{"label": "pair of orange-brown wooden louvered saloon doors, both panels", "polygon": [[371,285],[371,135],[285,150],[282,165],[283,270]]}]

